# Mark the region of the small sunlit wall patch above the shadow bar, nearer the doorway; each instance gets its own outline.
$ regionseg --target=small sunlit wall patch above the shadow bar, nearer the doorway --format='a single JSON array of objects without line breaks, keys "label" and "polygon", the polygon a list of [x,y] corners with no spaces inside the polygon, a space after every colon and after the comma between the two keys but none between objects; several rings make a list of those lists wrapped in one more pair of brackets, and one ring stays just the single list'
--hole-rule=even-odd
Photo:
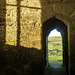
[{"label": "small sunlit wall patch above the shadow bar, nearer the doorway", "polygon": [[21,0],[21,5],[28,7],[41,7],[40,0]]}]

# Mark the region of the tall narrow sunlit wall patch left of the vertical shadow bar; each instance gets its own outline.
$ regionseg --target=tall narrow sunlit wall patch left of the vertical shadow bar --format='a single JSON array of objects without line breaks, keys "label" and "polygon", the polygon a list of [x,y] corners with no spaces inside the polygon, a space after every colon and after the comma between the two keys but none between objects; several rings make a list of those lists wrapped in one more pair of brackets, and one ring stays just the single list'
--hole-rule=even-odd
[{"label": "tall narrow sunlit wall patch left of the vertical shadow bar", "polygon": [[6,44],[17,44],[17,7],[6,6]]}]

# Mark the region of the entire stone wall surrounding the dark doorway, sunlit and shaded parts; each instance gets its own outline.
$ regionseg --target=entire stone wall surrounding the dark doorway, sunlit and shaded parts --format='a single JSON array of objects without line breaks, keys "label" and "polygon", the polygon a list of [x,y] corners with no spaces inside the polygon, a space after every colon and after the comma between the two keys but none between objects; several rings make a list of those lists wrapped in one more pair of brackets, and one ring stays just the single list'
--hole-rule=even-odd
[{"label": "entire stone wall surrounding the dark doorway, sunlit and shaded parts", "polygon": [[[75,0],[0,0],[0,64],[3,63],[4,67],[1,68],[1,73],[10,75],[10,68],[16,74],[20,72],[20,75],[24,72],[27,74],[27,69],[32,73],[34,69],[36,72],[43,69],[42,26],[44,21],[54,16],[68,27],[69,71],[74,72],[74,5]],[[35,62],[35,65],[30,66]],[[20,68],[17,69],[14,64]]]}]

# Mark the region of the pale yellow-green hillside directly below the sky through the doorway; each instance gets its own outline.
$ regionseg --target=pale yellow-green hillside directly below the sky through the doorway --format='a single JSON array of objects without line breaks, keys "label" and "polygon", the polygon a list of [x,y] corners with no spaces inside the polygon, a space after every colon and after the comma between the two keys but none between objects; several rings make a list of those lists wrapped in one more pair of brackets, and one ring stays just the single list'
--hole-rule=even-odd
[{"label": "pale yellow-green hillside directly below the sky through the doorway", "polygon": [[62,50],[62,36],[48,37],[48,50]]}]

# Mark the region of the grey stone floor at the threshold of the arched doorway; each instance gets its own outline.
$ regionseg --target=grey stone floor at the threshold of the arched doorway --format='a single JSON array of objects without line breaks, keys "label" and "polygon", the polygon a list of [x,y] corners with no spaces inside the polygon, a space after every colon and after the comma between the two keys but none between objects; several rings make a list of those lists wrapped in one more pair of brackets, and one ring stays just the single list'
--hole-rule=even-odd
[{"label": "grey stone floor at the threshold of the arched doorway", "polygon": [[44,75],[66,75],[66,70],[60,65],[61,63],[50,61],[50,66],[45,69]]}]

